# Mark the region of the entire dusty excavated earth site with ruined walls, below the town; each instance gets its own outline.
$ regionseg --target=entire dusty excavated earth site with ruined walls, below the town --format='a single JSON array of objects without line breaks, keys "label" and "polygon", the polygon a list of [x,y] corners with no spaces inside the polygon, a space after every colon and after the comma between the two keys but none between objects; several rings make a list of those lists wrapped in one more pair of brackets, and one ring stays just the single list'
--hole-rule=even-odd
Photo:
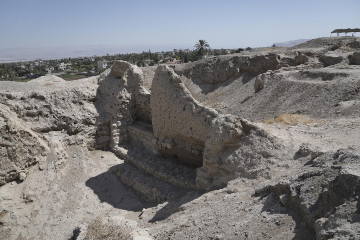
[{"label": "entire dusty excavated earth site with ruined walls, below the town", "polygon": [[0,82],[0,239],[360,239],[359,51]]}]

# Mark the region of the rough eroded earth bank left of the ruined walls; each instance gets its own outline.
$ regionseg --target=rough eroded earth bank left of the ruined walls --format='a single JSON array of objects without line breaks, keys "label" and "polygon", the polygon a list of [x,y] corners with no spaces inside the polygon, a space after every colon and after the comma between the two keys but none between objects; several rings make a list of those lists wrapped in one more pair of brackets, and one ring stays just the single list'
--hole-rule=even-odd
[{"label": "rough eroded earth bank left of the ruined walls", "polygon": [[[68,159],[66,146],[107,147],[108,134],[99,137],[96,133],[96,83],[95,78],[66,82],[56,76],[40,77],[26,85],[1,82],[2,184],[17,175],[23,180],[27,168],[37,162],[42,169],[46,167],[50,151],[57,155],[53,164],[61,165]],[[54,143],[54,133],[62,134],[59,143]]]}]

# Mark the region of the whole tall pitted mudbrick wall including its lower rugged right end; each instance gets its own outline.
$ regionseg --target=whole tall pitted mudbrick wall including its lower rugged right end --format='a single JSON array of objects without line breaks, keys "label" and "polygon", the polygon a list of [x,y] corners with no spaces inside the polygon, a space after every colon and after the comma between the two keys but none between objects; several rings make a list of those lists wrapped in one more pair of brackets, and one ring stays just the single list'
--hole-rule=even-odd
[{"label": "whole tall pitted mudbrick wall including its lower rugged right end", "polygon": [[200,189],[224,187],[237,177],[268,177],[283,145],[260,126],[202,106],[172,68],[157,68],[150,106],[154,137],[161,154],[201,166]]}]

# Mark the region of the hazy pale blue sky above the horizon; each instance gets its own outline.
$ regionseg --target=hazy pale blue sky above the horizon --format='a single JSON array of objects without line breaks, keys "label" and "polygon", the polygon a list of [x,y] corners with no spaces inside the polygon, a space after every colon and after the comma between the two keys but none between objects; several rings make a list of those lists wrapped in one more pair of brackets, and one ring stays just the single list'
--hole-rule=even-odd
[{"label": "hazy pale blue sky above the horizon", "polygon": [[360,28],[360,0],[0,0],[0,9],[0,49],[168,43],[192,47],[199,39],[211,48],[259,47],[327,37],[335,28]]}]

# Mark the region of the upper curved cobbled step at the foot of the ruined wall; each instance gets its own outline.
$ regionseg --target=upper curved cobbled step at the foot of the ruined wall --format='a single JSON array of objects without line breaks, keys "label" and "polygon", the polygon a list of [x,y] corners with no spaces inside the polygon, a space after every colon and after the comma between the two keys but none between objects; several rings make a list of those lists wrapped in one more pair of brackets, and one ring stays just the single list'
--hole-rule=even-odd
[{"label": "upper curved cobbled step at the foot of the ruined wall", "polygon": [[197,190],[195,182],[196,168],[194,166],[129,145],[119,146],[114,150],[125,161],[129,161],[145,173],[177,187]]}]

